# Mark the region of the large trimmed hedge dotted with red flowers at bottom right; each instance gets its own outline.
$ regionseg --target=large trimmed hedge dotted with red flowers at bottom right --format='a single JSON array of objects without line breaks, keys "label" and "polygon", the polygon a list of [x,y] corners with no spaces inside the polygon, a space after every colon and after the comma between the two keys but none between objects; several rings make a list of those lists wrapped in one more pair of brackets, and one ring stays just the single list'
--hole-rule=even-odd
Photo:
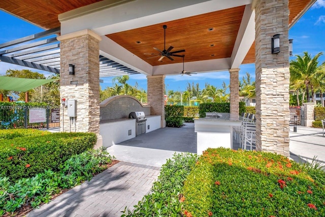
[{"label": "large trimmed hedge dotted with red flowers at bottom right", "polygon": [[208,149],[184,183],[182,214],[324,216],[324,185],[320,167],[273,153]]}]

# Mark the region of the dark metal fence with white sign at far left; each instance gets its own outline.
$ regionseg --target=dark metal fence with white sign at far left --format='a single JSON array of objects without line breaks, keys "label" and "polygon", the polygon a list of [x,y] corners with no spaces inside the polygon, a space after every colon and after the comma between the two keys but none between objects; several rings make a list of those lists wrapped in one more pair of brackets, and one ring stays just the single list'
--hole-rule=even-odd
[{"label": "dark metal fence with white sign at far left", "polygon": [[58,107],[2,105],[0,129],[59,127],[59,114]]}]

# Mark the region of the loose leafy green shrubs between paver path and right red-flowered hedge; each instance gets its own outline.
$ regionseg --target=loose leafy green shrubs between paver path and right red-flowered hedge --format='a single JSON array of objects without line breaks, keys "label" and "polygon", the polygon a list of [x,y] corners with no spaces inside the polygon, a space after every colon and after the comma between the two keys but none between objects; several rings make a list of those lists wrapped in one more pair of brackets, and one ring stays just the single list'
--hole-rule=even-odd
[{"label": "loose leafy green shrubs between paver path and right red-flowered hedge", "polygon": [[161,167],[158,180],[153,184],[151,194],[145,196],[135,209],[124,210],[123,216],[179,216],[183,197],[180,194],[186,176],[195,165],[195,154],[175,154]]}]

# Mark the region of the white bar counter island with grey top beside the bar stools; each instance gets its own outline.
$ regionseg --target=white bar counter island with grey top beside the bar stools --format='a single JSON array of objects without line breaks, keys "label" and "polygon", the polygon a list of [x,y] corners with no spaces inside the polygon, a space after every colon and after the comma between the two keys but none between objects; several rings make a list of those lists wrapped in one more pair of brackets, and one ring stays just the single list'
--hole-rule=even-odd
[{"label": "white bar counter island with grey top beside the bar stools", "polygon": [[194,119],[194,131],[197,132],[197,154],[201,155],[208,148],[232,149],[233,127],[240,125],[240,120]]}]

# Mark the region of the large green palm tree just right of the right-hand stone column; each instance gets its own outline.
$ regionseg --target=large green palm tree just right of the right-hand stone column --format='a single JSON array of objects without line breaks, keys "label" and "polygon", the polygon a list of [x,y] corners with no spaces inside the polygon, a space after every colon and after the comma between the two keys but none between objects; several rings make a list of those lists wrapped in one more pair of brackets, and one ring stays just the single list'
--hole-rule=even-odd
[{"label": "large green palm tree just right of the right-hand stone column", "polygon": [[319,70],[318,58],[322,52],[313,58],[304,52],[304,56],[296,55],[296,60],[290,62],[290,82],[303,83],[306,89],[307,102],[310,102],[309,89],[314,93],[314,86],[318,85],[317,71]]}]

